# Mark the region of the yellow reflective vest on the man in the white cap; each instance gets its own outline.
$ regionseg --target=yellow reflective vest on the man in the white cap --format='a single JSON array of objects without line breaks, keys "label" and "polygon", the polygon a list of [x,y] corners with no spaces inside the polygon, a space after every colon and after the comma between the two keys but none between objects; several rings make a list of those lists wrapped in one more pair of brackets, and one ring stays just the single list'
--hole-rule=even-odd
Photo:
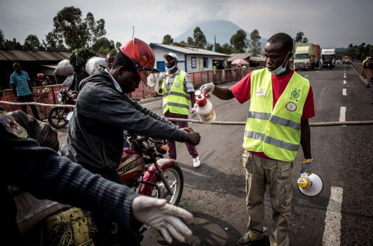
[{"label": "yellow reflective vest on the man in the white cap", "polygon": [[[190,94],[184,91],[184,79],[186,72],[181,71],[176,75],[171,91],[166,90],[166,80],[162,83],[161,89],[163,99],[163,113],[167,111],[175,114],[189,114],[189,105],[191,103]],[[167,79],[167,78],[166,78]]]}]

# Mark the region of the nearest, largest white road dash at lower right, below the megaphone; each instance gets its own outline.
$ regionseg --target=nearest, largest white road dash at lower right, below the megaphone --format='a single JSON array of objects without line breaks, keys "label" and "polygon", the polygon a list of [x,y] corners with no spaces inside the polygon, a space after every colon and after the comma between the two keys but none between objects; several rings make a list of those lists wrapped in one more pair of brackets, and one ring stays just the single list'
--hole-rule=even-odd
[{"label": "nearest, largest white road dash at lower right, below the megaphone", "polygon": [[325,216],[325,230],[322,245],[339,246],[341,244],[341,207],[343,189],[332,186],[327,215]]}]

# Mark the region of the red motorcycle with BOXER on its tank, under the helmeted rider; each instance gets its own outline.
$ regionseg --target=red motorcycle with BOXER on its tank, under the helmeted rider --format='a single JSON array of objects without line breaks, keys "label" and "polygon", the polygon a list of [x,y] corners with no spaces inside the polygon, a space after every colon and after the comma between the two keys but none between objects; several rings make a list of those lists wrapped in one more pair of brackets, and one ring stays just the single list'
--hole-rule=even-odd
[{"label": "red motorcycle with BOXER on its tank, under the helmeted rider", "polygon": [[[166,141],[124,132],[131,146],[123,148],[116,171],[127,186],[139,194],[166,199],[171,205],[180,201],[184,177],[174,159],[164,159]],[[157,160],[157,158],[160,158]],[[151,164],[148,167],[148,164]]]}]

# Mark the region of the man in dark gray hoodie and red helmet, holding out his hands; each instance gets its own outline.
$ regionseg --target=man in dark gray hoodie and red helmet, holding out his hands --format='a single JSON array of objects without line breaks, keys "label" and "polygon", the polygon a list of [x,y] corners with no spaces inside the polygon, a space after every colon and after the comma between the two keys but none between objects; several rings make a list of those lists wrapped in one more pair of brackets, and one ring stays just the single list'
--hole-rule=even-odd
[{"label": "man in dark gray hoodie and red helmet, holding out his hands", "polygon": [[199,133],[190,128],[188,132],[180,130],[126,94],[156,71],[154,62],[150,46],[135,38],[121,47],[110,71],[101,69],[83,80],[61,155],[93,173],[123,183],[116,173],[123,152],[123,130],[197,145]]}]

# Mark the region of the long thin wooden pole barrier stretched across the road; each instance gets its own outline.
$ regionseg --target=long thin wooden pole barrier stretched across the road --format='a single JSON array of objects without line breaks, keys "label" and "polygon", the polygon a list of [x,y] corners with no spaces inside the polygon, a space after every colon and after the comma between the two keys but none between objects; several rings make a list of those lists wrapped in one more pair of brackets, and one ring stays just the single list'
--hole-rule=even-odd
[{"label": "long thin wooden pole barrier stretched across the road", "polygon": [[[63,105],[63,104],[42,104],[42,103],[11,103],[0,101],[0,104],[10,105],[36,105],[41,107],[54,107],[54,108],[74,108],[74,105]],[[172,121],[188,121],[190,123],[203,124],[202,121],[196,119],[179,119],[179,118],[166,118]],[[245,126],[245,121],[214,121],[208,125],[223,125],[223,126]],[[369,126],[373,125],[373,120],[365,121],[332,121],[332,122],[315,122],[310,123],[310,127],[336,127],[336,126]]]}]

